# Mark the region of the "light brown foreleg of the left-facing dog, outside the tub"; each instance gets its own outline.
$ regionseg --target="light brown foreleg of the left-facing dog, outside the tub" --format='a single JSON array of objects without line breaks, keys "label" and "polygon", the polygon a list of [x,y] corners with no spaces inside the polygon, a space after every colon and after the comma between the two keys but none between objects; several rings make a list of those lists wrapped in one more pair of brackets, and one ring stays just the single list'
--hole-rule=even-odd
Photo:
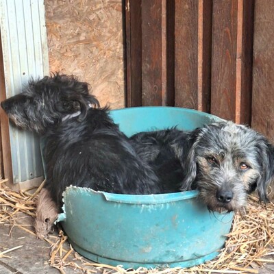
[{"label": "light brown foreleg of the left-facing dog, outside the tub", "polygon": [[51,227],[58,217],[58,208],[51,199],[49,190],[42,188],[36,200],[36,219],[34,228],[37,238],[42,239],[51,232]]}]

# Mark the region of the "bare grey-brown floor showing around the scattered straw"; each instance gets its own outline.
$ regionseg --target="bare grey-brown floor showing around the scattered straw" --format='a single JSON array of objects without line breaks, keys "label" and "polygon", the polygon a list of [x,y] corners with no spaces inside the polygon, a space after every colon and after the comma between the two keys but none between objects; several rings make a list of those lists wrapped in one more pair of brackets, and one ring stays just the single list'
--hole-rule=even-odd
[{"label": "bare grey-brown floor showing around the scattered straw", "polygon": [[[29,223],[29,221],[25,221]],[[32,227],[27,227],[32,229]],[[9,235],[10,234],[10,235]],[[53,242],[56,239],[57,233],[53,234]],[[10,233],[10,226],[0,224],[0,252],[5,249],[11,249],[13,247],[21,248],[6,253],[6,256],[12,258],[0,258],[0,273],[1,274],[55,274],[60,273],[58,269],[54,269],[49,265],[51,247],[45,240],[38,240],[36,236],[25,232],[23,229],[13,227]],[[64,245],[69,250],[69,245]],[[272,259],[274,256],[272,256]],[[93,272],[94,271],[94,272]],[[116,272],[116,271],[114,271]],[[64,269],[64,273],[82,273],[75,271],[69,267]],[[98,269],[92,269],[92,273],[103,273]],[[111,272],[108,272],[111,273]],[[260,269],[260,274],[274,273],[274,264],[267,264],[266,268]]]}]

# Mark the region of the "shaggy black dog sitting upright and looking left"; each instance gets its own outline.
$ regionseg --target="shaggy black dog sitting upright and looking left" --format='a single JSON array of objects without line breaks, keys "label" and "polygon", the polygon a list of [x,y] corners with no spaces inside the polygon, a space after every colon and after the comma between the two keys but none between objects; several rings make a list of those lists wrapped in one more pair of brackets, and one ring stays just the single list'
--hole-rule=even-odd
[{"label": "shaggy black dog sitting upright and looking left", "polygon": [[[47,191],[38,202],[51,198],[60,212],[62,192],[70,185],[122,194],[161,192],[158,177],[140,160],[108,108],[99,108],[88,84],[76,77],[55,73],[32,80],[1,106],[15,125],[43,138]],[[42,223],[51,217],[46,212],[36,216],[42,216],[36,219]]]}]

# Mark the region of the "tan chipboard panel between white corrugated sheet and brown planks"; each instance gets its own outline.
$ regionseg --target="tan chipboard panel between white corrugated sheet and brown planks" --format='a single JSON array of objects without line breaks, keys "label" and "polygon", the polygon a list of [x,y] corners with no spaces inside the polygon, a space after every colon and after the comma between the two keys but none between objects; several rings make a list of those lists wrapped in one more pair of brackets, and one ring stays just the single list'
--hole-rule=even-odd
[{"label": "tan chipboard panel between white corrugated sheet and brown planks", "polygon": [[122,0],[45,0],[50,71],[88,82],[101,106],[124,108]]}]

